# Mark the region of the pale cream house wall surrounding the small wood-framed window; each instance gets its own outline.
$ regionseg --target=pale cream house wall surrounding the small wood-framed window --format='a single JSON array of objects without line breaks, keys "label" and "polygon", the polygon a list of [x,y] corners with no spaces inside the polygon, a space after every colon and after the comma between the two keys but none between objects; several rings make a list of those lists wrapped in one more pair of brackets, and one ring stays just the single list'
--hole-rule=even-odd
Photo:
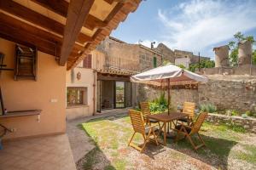
[{"label": "pale cream house wall surrounding the small wood-framed window", "polygon": [[[81,79],[77,79],[78,72],[81,73]],[[66,87],[84,87],[87,88],[87,105],[68,106],[66,109],[67,119],[74,119],[81,116],[92,116],[93,114],[93,84],[94,72],[92,69],[74,68],[73,71],[67,71]]]}]

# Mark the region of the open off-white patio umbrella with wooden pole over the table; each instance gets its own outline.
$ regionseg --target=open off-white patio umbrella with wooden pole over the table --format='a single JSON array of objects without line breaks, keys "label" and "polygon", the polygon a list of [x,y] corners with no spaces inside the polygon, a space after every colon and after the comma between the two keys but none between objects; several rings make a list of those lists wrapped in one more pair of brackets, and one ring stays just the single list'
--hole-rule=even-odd
[{"label": "open off-white patio umbrella with wooden pole over the table", "polygon": [[170,114],[170,86],[207,81],[207,77],[202,77],[194,72],[183,70],[182,68],[171,64],[144,71],[131,77],[131,82],[168,87],[168,115]]}]

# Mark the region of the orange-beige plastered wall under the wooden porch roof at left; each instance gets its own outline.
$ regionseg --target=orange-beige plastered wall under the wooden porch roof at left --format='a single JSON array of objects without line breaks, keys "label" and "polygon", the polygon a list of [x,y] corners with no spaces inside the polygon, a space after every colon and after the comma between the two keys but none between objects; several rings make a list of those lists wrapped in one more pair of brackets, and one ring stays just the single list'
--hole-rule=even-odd
[{"label": "orange-beige plastered wall under the wooden porch roof at left", "polygon": [[[4,64],[14,68],[15,43],[0,38],[0,52],[5,54]],[[66,66],[59,66],[55,57],[38,51],[38,81],[14,81],[13,71],[2,71],[1,88],[3,102],[8,111],[42,110],[38,116],[1,118],[0,123],[15,128],[4,138],[64,133],[65,120],[65,82]],[[56,102],[51,102],[54,99]]]}]

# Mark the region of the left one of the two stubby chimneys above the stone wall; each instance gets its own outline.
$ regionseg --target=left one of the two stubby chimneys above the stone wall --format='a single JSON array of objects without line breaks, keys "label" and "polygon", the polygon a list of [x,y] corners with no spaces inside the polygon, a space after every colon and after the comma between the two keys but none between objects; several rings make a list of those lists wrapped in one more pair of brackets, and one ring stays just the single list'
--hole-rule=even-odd
[{"label": "left one of the two stubby chimneys above the stone wall", "polygon": [[229,66],[229,50],[228,45],[213,48],[215,52],[215,67]]}]

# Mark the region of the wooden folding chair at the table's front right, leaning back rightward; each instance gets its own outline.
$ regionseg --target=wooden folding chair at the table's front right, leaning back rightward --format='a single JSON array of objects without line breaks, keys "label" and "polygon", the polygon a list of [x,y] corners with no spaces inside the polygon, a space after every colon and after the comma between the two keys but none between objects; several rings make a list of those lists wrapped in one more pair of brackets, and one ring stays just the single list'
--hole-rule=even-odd
[{"label": "wooden folding chair at the table's front right, leaning back rightward", "polygon": [[[199,130],[201,128],[202,123],[204,122],[204,120],[207,117],[207,113],[203,112],[201,113],[197,119],[195,123],[191,123],[191,126],[187,126],[184,124],[179,124],[177,125],[175,128],[177,129],[177,137],[175,139],[175,141],[177,142],[178,140],[178,135],[179,134],[183,134],[185,135],[185,138],[189,139],[190,144],[192,144],[192,146],[194,147],[195,150],[201,148],[202,146],[206,145],[204,140],[201,138],[201,135],[199,134]],[[197,134],[201,144],[195,145],[195,143],[193,142],[191,136],[193,134]]]}]

